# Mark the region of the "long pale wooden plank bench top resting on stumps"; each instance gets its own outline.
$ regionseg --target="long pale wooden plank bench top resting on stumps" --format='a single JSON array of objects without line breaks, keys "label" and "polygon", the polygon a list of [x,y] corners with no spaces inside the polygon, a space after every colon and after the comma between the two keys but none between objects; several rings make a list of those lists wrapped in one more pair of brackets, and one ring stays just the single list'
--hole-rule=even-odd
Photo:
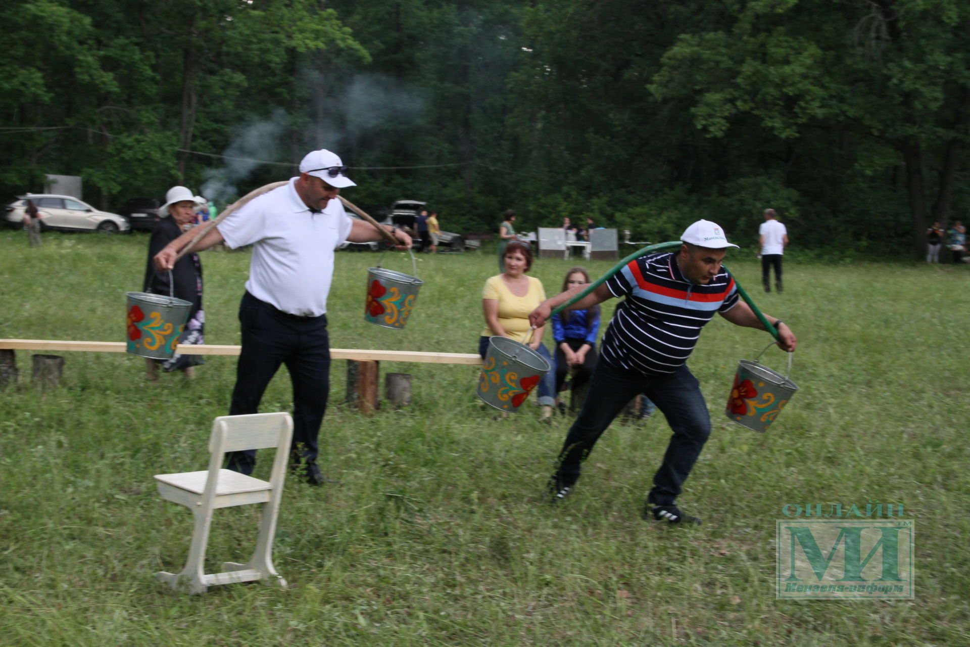
[{"label": "long pale wooden plank bench top resting on stumps", "polygon": [[[83,350],[99,353],[123,353],[123,341],[68,340],[0,340],[0,350]],[[186,355],[239,355],[240,346],[220,344],[178,345],[178,352]],[[424,364],[459,364],[476,366],[482,360],[473,353],[432,353],[409,350],[356,350],[331,348],[335,360],[374,360],[380,362],[418,362]]]}]

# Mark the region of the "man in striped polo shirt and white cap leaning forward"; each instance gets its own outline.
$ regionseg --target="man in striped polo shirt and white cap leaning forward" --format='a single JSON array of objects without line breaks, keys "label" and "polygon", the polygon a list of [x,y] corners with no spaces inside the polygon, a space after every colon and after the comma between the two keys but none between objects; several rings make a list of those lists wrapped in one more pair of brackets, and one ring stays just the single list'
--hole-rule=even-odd
[{"label": "man in striped polo shirt and white cap leaning forward", "polygon": [[[677,251],[631,261],[570,307],[587,308],[613,297],[626,297],[610,321],[586,403],[560,452],[559,466],[550,480],[553,501],[569,495],[579,479],[580,464],[589,457],[599,436],[634,396],[644,393],[663,411],[673,430],[663,463],[654,475],[646,514],[672,524],[700,523],[676,504],[711,433],[707,404],[699,382],[687,368],[687,359],[700,329],[715,312],[738,326],[764,327],[754,311],[739,300],[734,279],[722,267],[727,247],[737,246],[727,242],[724,230],[708,220],[698,220],[680,240],[683,244]],[[582,289],[578,286],[536,307],[530,315],[533,326],[542,325],[553,308]],[[771,324],[780,326],[778,345],[794,350],[791,329],[765,316]]]}]

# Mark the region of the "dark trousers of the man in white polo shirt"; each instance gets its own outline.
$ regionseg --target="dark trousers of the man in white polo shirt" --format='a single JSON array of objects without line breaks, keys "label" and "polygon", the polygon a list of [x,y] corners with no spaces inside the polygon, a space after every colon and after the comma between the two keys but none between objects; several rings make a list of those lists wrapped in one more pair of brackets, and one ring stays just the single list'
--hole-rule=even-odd
[{"label": "dark trousers of the man in white polo shirt", "polygon": [[[248,292],[240,304],[242,352],[236,366],[229,415],[258,413],[266,387],[285,364],[293,384],[293,444],[295,461],[315,463],[317,436],[330,393],[330,340],[327,315],[298,317],[267,304]],[[256,452],[229,454],[229,469],[252,473]]]}]

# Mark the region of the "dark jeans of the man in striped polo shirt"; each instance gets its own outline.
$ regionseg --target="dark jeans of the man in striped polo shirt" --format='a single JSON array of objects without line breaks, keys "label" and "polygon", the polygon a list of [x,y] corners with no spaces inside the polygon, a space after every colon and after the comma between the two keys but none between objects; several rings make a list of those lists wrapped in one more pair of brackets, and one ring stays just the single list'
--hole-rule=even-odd
[{"label": "dark jeans of the man in striped polo shirt", "polygon": [[699,382],[686,366],[668,375],[642,375],[600,361],[586,404],[563,444],[554,475],[558,487],[571,486],[579,479],[580,465],[589,458],[598,438],[640,393],[657,404],[673,430],[647,501],[654,505],[674,503],[711,434],[711,419]]}]

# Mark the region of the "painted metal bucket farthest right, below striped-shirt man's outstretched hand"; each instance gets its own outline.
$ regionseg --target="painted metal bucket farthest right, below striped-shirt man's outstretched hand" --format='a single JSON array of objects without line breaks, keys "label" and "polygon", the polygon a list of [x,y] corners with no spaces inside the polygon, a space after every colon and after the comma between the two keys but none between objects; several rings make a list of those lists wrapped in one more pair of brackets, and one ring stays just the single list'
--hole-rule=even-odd
[{"label": "painted metal bucket farthest right, below striped-shirt man's outstretched hand", "polygon": [[[770,345],[773,345],[772,341]],[[767,348],[765,348],[767,350]],[[725,413],[733,422],[755,432],[768,427],[798,390],[795,383],[780,372],[772,371],[758,361],[740,360],[734,373],[734,384],[727,396]],[[788,372],[792,372],[792,353],[789,353]]]}]

